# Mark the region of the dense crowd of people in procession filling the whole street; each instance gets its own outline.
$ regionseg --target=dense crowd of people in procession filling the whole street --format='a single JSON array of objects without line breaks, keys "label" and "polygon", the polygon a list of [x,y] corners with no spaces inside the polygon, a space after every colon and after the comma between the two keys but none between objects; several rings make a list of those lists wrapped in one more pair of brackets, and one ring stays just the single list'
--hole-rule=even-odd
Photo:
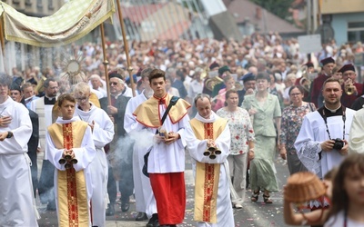
[{"label": "dense crowd of people in procession filling the whole street", "polygon": [[[0,77],[1,168],[16,163],[14,174],[23,177],[2,176],[0,225],[36,226],[36,209],[6,199],[16,179],[15,188],[23,190],[13,202],[36,208],[37,189],[47,210],[56,210],[59,226],[105,226],[106,215],[115,214],[117,188],[122,212],[134,193],[136,221],[176,226],[186,209],[188,152],[197,225],[234,226],[232,207],[244,206],[248,184],[251,202],[260,193],[263,202],[274,202],[277,152],[290,174],[309,171],[320,179],[351,162],[349,153],[364,152],[363,84],[353,65],[361,44],[331,42],[307,55],[296,39],[278,34],[241,42],[132,42],[131,72],[123,44],[106,45],[108,74],[100,45],[86,43],[66,47],[84,59],[75,78],[58,61],[43,72],[14,68],[12,76]],[[39,139],[37,146],[30,136]],[[347,165],[333,177],[334,198],[342,186],[337,182],[354,181],[354,175],[359,181],[361,165],[349,176],[341,170]],[[350,209],[362,210],[363,203],[341,203],[312,201],[309,208],[332,207],[329,222],[344,211],[345,220],[362,223]]]}]

